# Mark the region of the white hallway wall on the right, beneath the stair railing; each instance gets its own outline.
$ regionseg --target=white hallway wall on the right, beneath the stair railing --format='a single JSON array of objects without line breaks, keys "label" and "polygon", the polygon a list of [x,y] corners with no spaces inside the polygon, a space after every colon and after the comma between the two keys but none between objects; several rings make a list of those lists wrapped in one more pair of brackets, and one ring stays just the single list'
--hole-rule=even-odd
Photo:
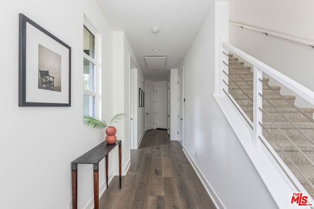
[{"label": "white hallway wall on the right, beneath the stair railing", "polygon": [[183,150],[213,199],[224,208],[277,208],[212,96],[215,91],[215,26],[228,24],[219,19],[225,15],[221,11],[228,11],[228,2],[215,2],[182,63]]}]

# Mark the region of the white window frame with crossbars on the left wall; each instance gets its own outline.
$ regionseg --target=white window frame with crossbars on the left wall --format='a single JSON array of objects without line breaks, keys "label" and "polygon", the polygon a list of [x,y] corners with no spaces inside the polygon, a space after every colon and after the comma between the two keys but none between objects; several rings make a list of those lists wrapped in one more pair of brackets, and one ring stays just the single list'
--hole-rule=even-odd
[{"label": "white window frame with crossbars on the left wall", "polygon": [[[101,116],[101,35],[94,29],[94,27],[86,19],[84,19],[83,27],[86,27],[95,37],[94,53],[95,58],[92,58],[83,51],[83,59],[86,59],[94,65],[94,91],[85,90],[83,87],[83,95],[94,96],[94,110],[93,117],[100,118]],[[82,59],[82,61],[83,61]]]}]

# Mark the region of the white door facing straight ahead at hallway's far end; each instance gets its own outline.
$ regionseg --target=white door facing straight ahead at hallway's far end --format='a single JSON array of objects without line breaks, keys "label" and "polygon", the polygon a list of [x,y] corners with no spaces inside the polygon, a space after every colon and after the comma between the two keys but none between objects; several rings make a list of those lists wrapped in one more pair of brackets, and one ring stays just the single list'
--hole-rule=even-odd
[{"label": "white door facing straight ahead at hallway's far end", "polygon": [[156,128],[168,128],[168,87],[156,87]]}]

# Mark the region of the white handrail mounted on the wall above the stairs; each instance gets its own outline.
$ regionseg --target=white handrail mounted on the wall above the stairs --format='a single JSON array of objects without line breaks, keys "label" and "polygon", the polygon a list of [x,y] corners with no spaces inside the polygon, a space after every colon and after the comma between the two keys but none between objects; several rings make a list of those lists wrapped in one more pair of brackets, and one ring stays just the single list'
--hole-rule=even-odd
[{"label": "white handrail mounted on the wall above the stairs", "polygon": [[237,25],[237,26],[240,26],[240,27],[248,28],[248,29],[251,29],[251,30],[259,31],[259,32],[262,32],[262,33],[266,33],[268,35],[273,35],[273,36],[277,36],[277,37],[280,37],[280,38],[283,38],[283,39],[288,39],[290,41],[298,42],[298,43],[301,43],[301,44],[314,46],[314,42],[308,41],[308,40],[305,40],[305,39],[300,39],[300,38],[296,38],[296,37],[293,37],[293,36],[288,36],[288,35],[285,35],[285,34],[276,33],[276,32],[270,31],[270,30],[264,30],[264,29],[261,29],[261,28],[252,27],[252,26],[249,26],[249,25],[241,24],[241,23],[236,23],[236,22],[233,22],[233,21],[229,21],[229,23]]}]

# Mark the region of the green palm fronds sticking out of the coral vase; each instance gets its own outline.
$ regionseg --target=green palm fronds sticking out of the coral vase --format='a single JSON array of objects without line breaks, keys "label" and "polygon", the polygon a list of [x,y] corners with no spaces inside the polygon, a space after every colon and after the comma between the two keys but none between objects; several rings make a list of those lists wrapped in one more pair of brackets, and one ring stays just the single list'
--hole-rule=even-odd
[{"label": "green palm fronds sticking out of the coral vase", "polygon": [[100,120],[98,118],[93,118],[91,116],[84,116],[84,124],[87,125],[88,127],[93,127],[97,129],[105,129],[106,127],[110,127],[112,123],[117,123],[121,121],[125,116],[126,114],[124,113],[120,113],[113,116],[111,120],[109,121],[109,125],[107,125],[104,119]]}]

